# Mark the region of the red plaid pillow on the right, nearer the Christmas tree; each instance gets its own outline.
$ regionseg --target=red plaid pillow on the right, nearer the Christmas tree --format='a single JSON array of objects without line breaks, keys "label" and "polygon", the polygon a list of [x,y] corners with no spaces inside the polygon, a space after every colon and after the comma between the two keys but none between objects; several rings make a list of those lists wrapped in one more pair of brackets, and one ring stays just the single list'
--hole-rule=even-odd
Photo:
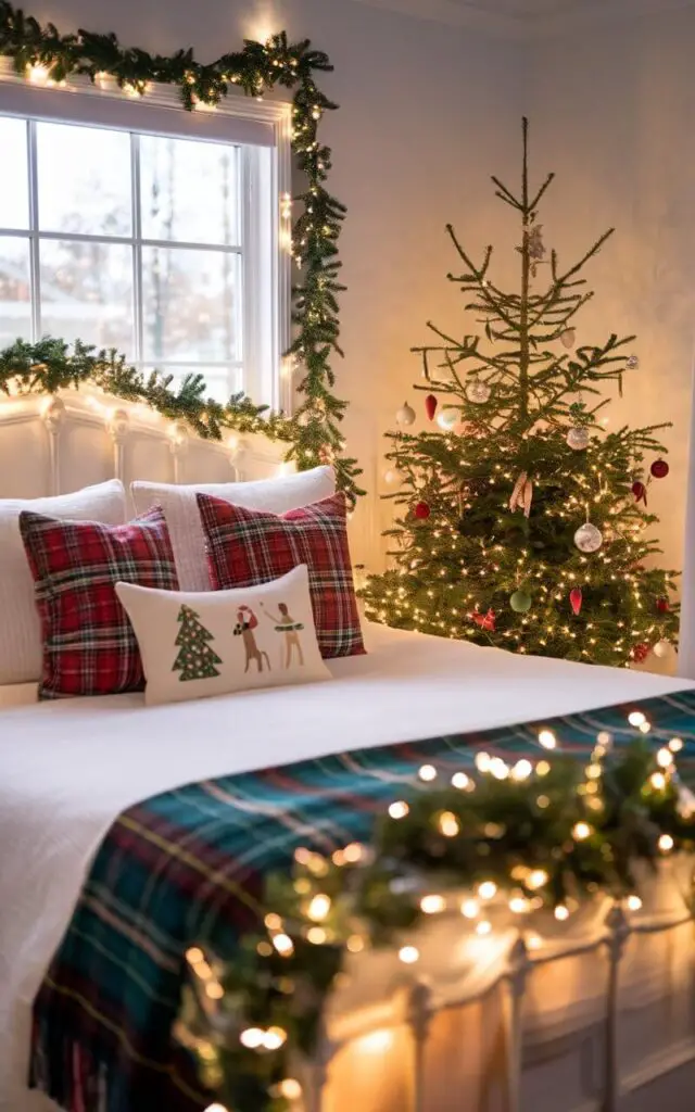
[{"label": "red plaid pillow on the right, nearer the Christmas tree", "polygon": [[217,590],[256,587],[306,564],[321,656],[365,652],[341,494],[281,516],[197,498]]}]

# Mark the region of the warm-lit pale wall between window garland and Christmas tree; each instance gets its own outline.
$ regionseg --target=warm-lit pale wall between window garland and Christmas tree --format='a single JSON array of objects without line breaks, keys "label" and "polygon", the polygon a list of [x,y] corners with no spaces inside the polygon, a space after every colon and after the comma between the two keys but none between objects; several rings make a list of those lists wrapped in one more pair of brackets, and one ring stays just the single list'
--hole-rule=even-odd
[{"label": "warm-lit pale wall between window garland and Christmas tree", "polygon": [[488,235],[485,179],[509,159],[518,51],[480,31],[353,0],[43,0],[27,7],[63,31],[113,30],[152,51],[191,43],[200,60],[238,49],[245,36],[281,28],[330,56],[336,70],[322,85],[341,106],[324,125],[335,156],[330,188],[349,208],[340,245],[349,290],[338,389],[351,403],[348,448],[373,493],[358,510],[354,555],[375,566],[380,434],[417,377],[408,349],[421,340],[425,318],[456,306],[444,281],[451,265],[445,224],[465,221],[476,235],[479,228],[480,242]]}]

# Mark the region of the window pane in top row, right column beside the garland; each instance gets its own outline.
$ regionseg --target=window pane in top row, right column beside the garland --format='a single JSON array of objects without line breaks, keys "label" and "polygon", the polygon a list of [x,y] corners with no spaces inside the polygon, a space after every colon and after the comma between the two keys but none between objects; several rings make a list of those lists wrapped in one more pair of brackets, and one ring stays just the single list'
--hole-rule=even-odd
[{"label": "window pane in top row, right column beside the garland", "polygon": [[239,244],[238,148],[140,136],[145,239]]}]

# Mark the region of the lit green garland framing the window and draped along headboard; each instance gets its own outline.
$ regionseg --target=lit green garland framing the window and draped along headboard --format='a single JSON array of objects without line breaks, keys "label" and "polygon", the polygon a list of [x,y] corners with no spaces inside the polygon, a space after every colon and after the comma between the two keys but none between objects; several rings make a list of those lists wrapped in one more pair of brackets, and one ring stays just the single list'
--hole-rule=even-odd
[{"label": "lit green garland framing the window and draped along headboard", "polygon": [[334,393],[330,366],[334,355],[342,355],[337,297],[345,287],[338,281],[337,241],[346,209],[326,188],[331,151],[318,135],[324,112],[338,106],[320,91],[314,77],[317,71],[332,70],[328,57],[311,49],[308,39],[288,42],[281,31],[266,43],[246,40],[242,50],[205,64],[196,60],[192,48],[165,57],[122,47],[113,33],[80,29],[60,34],[52,23],[41,27],[4,0],[0,2],[0,54],[12,59],[18,73],[31,77],[40,70],[44,85],[80,75],[92,82],[110,77],[119,88],[139,96],[146,96],[150,82],[172,85],[188,111],[197,105],[214,108],[234,87],[248,97],[262,97],[276,86],[294,90],[291,146],[306,188],[295,198],[301,215],[292,228],[292,255],[301,279],[292,288],[296,331],[287,358],[305,374],[296,387],[300,404],[291,419],[269,414],[244,395],[232,396],[225,406],[207,400],[200,375],[187,377],[175,393],[169,389],[169,377],[146,378],[115,350],[97,351],[79,340],[72,354],[57,339],[33,345],[18,341],[7,348],[0,354],[0,389],[9,393],[16,379],[21,389],[43,394],[96,381],[126,400],[145,401],[166,417],[188,421],[210,439],[219,439],[222,429],[262,433],[287,441],[287,459],[300,469],[332,463],[338,486],[354,504],[364,494],[357,485],[361,470],[356,459],[342,455],[340,423],[347,403]]}]

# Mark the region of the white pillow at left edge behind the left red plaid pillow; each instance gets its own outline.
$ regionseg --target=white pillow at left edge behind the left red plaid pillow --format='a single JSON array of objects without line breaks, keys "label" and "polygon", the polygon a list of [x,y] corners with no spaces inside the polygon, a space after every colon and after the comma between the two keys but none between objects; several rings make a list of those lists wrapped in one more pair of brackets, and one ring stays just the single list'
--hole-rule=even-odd
[{"label": "white pillow at left edge behind the left red plaid pillow", "polygon": [[19,532],[22,509],[105,525],[122,525],[128,519],[119,479],[54,498],[0,499],[0,684],[31,683],[41,675],[41,627]]}]

